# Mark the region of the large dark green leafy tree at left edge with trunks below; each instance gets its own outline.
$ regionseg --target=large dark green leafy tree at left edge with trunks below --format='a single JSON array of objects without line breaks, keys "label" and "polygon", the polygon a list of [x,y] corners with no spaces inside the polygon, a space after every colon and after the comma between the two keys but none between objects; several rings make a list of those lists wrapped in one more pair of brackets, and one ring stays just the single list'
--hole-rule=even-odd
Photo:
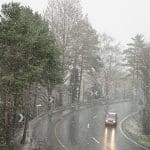
[{"label": "large dark green leafy tree at left edge with trunks below", "polygon": [[[25,130],[32,118],[30,113],[33,110],[29,106],[33,84],[40,83],[50,90],[52,85],[62,81],[60,54],[54,34],[39,14],[19,3],[2,5],[0,143],[8,145],[9,149],[12,148],[18,110],[25,115]],[[25,135],[22,143],[24,141]]]}]

